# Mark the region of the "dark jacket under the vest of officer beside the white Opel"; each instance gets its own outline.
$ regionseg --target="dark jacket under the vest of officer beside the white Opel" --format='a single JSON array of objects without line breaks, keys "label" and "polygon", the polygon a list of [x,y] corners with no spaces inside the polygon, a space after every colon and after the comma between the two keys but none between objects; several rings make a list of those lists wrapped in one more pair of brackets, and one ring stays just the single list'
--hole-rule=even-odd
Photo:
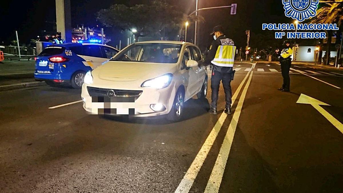
[{"label": "dark jacket under the vest of officer beside the white Opel", "polygon": [[[217,37],[216,40],[213,40],[213,42],[210,46],[210,50],[209,50],[209,52],[206,56],[205,62],[204,62],[206,65],[211,64],[211,61],[214,59],[218,47],[220,45],[222,45],[220,40],[226,39],[226,38],[228,38],[228,37],[226,37],[226,35],[221,35],[221,36]],[[213,70],[218,71],[218,72],[223,72],[223,73],[232,73],[232,67],[222,67],[222,66],[213,65]]]}]

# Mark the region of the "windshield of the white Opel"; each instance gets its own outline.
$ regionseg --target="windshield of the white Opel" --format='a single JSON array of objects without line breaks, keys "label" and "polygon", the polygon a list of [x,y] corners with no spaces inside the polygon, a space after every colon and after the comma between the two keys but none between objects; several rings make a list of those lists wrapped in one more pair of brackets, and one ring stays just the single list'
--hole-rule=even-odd
[{"label": "windshield of the white Opel", "polygon": [[182,45],[163,43],[133,44],[111,61],[177,63]]}]

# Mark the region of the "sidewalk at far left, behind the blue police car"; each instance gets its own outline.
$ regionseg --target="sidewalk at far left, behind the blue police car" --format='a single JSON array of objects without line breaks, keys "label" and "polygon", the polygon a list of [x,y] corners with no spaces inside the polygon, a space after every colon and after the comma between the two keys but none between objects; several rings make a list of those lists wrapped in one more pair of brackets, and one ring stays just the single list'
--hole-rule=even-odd
[{"label": "sidewalk at far left, behind the blue police car", "polygon": [[34,78],[35,61],[4,60],[0,64],[0,91],[45,85]]}]

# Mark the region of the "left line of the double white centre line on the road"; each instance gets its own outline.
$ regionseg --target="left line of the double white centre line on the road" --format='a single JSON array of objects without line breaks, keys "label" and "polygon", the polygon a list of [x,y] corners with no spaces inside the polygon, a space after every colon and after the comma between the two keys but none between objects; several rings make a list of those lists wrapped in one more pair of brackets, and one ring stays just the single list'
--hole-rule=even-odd
[{"label": "left line of the double white centre line on the road", "polygon": [[[255,64],[253,64],[253,66],[255,66]],[[250,69],[252,69],[252,68],[250,68]],[[245,76],[243,81],[238,86],[235,94],[232,97],[232,104],[234,104],[235,100],[237,99],[237,96],[238,96],[240,90],[242,89],[245,81],[247,80],[249,74],[250,74],[250,71],[247,73],[247,75]],[[175,190],[175,193],[188,193],[189,192],[189,190],[191,189],[191,187],[194,183],[194,180],[196,179],[196,177],[200,171],[202,164],[204,163],[204,161],[205,161],[216,137],[218,136],[218,133],[220,132],[220,129],[223,126],[223,123],[224,123],[226,117],[227,117],[226,113],[223,112],[222,115],[220,116],[220,118],[218,119],[217,123],[212,128],[211,133],[206,138],[205,143],[202,145],[197,156],[194,158],[194,160],[193,160],[191,166],[189,167],[189,169],[187,170],[184,178],[181,180],[179,186]]]}]

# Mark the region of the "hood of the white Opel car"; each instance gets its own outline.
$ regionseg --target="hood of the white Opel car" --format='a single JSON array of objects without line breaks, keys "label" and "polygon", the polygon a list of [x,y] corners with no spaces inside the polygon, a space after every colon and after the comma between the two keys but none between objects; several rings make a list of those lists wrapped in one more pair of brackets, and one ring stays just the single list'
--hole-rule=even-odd
[{"label": "hood of the white Opel car", "polygon": [[166,73],[174,73],[176,64],[108,61],[92,71],[93,77],[109,81],[144,81]]}]

